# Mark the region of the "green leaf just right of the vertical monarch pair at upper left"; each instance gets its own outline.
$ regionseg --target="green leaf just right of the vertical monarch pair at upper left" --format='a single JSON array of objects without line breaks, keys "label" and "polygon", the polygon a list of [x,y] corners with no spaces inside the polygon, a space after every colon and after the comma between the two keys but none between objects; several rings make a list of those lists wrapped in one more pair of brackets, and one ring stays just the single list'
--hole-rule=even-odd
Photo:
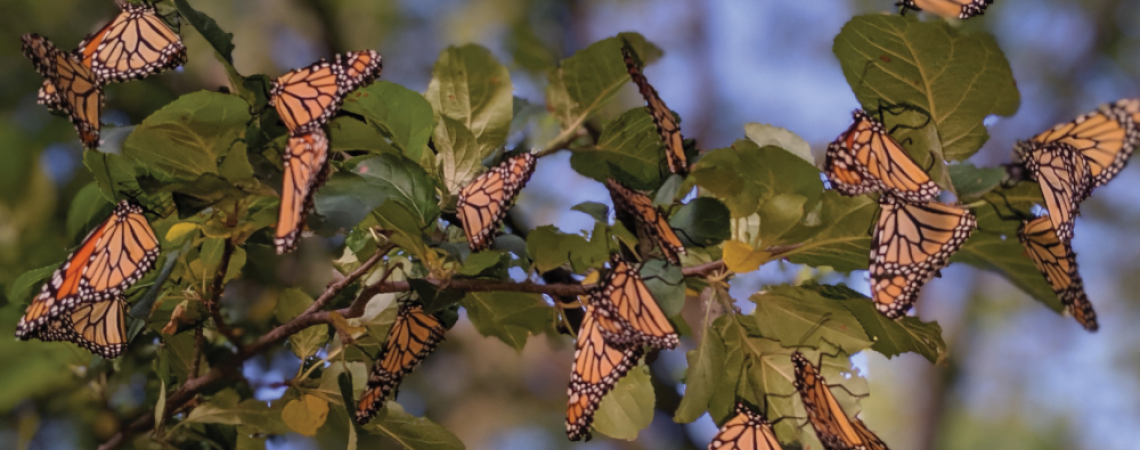
[{"label": "green leaf just right of the vertical monarch pair at upper left", "polygon": [[343,109],[364,116],[408,159],[422,162],[435,128],[431,104],[420,93],[396,83],[378,81],[344,99]]}]

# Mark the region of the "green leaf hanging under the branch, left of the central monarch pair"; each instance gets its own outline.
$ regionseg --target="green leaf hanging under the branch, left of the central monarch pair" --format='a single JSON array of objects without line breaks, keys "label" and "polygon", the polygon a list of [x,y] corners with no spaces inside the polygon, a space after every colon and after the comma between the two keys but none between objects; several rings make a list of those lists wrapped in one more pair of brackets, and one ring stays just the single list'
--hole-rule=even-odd
[{"label": "green leaf hanging under the branch, left of the central monarch pair", "polygon": [[555,311],[539,294],[472,292],[459,304],[479,334],[521,352],[527,338],[554,329]]}]

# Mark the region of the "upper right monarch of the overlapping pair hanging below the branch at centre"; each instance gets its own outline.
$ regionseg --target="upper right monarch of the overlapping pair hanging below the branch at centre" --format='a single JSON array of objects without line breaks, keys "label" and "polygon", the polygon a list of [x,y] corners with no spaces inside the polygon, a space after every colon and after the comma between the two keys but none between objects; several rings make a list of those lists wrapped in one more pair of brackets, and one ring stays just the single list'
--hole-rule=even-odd
[{"label": "upper right monarch of the overlapping pair hanging below the branch at centre", "polygon": [[610,272],[589,300],[597,305],[602,334],[610,343],[671,350],[678,343],[677,332],[657,305],[637,269],[626,263],[620,254],[611,255]]}]

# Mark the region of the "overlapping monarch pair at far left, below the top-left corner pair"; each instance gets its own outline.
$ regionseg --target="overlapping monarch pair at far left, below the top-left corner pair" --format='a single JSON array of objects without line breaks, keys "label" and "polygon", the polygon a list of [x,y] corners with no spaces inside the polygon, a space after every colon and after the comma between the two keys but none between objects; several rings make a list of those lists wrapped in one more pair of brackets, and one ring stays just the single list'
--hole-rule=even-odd
[{"label": "overlapping monarch pair at far left, below the top-left corner pair", "polygon": [[129,201],[83,238],[16,325],[21,339],[71,341],[107,358],[124,345],[122,294],[158,257],[142,208]]}]

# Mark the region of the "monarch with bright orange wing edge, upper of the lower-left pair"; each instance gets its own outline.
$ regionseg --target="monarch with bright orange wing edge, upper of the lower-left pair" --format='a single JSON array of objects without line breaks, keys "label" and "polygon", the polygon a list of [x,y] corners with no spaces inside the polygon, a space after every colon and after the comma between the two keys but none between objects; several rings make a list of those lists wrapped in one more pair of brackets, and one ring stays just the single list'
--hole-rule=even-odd
[{"label": "monarch with bright orange wing edge, upper of the lower-left pair", "polygon": [[36,337],[49,321],[63,320],[66,314],[72,316],[76,327],[83,325],[75,317],[79,310],[117,298],[154,267],[157,257],[158,239],[142,215],[142,208],[128,201],[120,202],[111,216],[91,230],[43,284],[40,295],[19,319],[16,337]]}]

